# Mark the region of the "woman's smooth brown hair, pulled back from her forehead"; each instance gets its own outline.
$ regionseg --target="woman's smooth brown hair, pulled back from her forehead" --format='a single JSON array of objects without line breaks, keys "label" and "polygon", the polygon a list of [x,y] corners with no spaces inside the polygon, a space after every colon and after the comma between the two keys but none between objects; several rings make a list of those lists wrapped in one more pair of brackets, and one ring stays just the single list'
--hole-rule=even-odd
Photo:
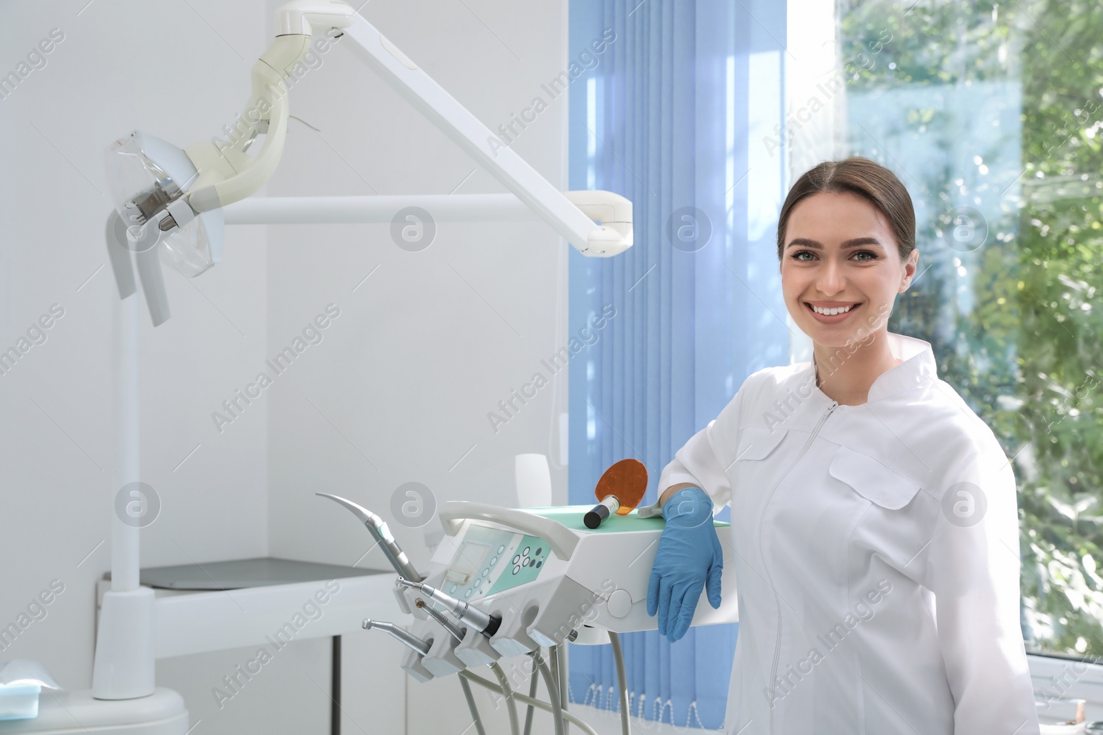
[{"label": "woman's smooth brown hair, pulled back from her forehead", "polygon": [[915,209],[897,175],[876,161],[858,155],[824,161],[808,169],[789,190],[778,217],[778,260],[785,248],[785,226],[800,202],[821,192],[857,194],[880,209],[892,227],[900,260],[915,249]]}]

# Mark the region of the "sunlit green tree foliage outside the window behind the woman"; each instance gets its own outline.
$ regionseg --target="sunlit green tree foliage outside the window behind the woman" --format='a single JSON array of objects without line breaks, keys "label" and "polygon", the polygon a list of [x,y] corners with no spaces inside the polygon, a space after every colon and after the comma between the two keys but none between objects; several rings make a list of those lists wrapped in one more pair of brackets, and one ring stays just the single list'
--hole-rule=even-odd
[{"label": "sunlit green tree foliage outside the window behind the woman", "polygon": [[[949,223],[918,223],[931,270],[890,328],[932,343],[940,376],[1015,457],[1028,648],[1103,656],[1103,12],[1094,0],[909,6],[840,0],[842,55],[859,58],[850,90],[1017,83],[1021,174],[977,252],[924,249]],[[891,41],[860,63],[884,29]],[[964,191],[955,165],[947,155],[923,182],[935,204]]]}]

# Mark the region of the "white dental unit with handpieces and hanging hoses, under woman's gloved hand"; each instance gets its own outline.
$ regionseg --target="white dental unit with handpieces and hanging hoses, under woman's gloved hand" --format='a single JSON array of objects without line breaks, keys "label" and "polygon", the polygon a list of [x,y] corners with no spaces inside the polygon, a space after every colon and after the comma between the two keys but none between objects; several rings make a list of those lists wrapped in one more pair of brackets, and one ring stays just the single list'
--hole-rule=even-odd
[{"label": "white dental unit with handpieces and hanging hoses, under woman's gloved hand", "polygon": [[[622,729],[629,732],[619,634],[656,628],[655,618],[647,615],[646,598],[664,527],[662,518],[630,514],[589,529],[583,522],[588,506],[513,510],[447,502],[439,512],[446,537],[422,576],[394,544],[386,523],[377,516],[344,498],[319,495],[355,514],[381,540],[399,573],[395,595],[401,610],[414,616],[413,625],[405,629],[367,619],[364,627],[382,629],[403,642],[408,650],[401,669],[418,681],[459,674],[480,731],[468,681],[503,693],[513,735],[520,735],[514,700],[550,711],[557,735],[564,732],[566,721],[592,733],[565,712],[566,672],[560,669],[558,677],[545,673],[542,648],[549,649],[556,664],[559,647],[569,641],[613,644]],[[721,581],[728,590],[736,583],[731,569],[725,568]],[[728,595],[718,609],[698,605],[693,625],[737,619],[737,596]],[[497,661],[523,655],[534,658],[549,703],[510,690]],[[497,683],[472,673],[482,668],[490,668]]]}]

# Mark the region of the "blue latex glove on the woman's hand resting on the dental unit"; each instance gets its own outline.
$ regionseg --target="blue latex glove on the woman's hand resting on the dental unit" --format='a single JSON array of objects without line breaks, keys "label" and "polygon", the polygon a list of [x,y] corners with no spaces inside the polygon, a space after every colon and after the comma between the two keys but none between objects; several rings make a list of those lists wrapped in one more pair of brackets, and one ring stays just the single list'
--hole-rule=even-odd
[{"label": "blue latex glove on the woman's hand resting on the dental unit", "polygon": [[658,540],[647,584],[647,615],[658,613],[658,633],[672,644],[686,635],[702,590],[720,606],[724,552],[713,526],[713,499],[699,487],[684,487],[663,504],[666,528]]}]

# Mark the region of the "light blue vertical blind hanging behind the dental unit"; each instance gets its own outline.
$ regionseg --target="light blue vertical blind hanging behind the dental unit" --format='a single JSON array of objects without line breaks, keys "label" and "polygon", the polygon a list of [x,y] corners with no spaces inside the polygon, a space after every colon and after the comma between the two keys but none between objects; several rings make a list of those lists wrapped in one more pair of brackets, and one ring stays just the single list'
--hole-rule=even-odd
[{"label": "light blue vertical blind hanging behind the dental unit", "polygon": [[[646,465],[652,502],[743,379],[789,361],[773,241],[785,152],[770,143],[784,140],[784,7],[570,3],[571,188],[622,194],[635,220],[623,255],[571,253],[570,333],[586,343],[569,365],[574,504],[625,457]],[[624,636],[632,714],[720,727],[737,628]],[[571,701],[618,707],[609,646],[572,646],[569,682]]]}]

